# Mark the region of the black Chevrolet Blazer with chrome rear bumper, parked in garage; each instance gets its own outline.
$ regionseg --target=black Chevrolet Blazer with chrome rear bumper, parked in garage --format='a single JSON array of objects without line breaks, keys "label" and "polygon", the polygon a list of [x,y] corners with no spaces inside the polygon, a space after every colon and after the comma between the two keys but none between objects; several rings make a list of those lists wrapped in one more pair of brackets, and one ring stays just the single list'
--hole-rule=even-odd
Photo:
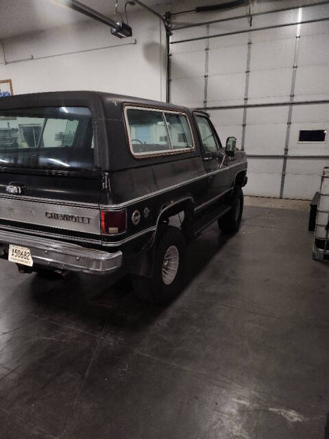
[{"label": "black Chevrolet Blazer with chrome rear bumper, parked in garage", "polygon": [[[238,230],[245,153],[206,112],[90,91],[0,99],[0,255],[21,272],[131,274],[145,300],[182,285],[186,244]],[[175,225],[173,225],[175,224]]]}]

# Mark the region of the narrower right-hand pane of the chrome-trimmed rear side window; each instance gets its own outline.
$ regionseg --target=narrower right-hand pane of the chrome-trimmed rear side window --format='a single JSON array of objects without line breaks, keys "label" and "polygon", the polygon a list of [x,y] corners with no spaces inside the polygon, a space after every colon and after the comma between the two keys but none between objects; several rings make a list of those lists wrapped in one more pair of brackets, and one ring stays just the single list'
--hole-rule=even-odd
[{"label": "narrower right-hand pane of the chrome-trimmed rear side window", "polygon": [[164,115],[167,119],[173,150],[193,147],[192,134],[186,116],[174,115],[170,112],[166,112]]}]

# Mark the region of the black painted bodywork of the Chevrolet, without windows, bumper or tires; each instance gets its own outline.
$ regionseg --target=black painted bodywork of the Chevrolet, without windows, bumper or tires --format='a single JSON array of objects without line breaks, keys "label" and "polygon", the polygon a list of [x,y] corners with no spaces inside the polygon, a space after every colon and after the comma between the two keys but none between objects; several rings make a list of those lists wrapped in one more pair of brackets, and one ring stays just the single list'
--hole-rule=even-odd
[{"label": "black painted bodywork of the Chevrolet, without windows, bumper or tires", "polygon": [[[127,139],[127,126],[123,111],[125,105],[167,108],[184,113],[188,117],[193,134],[193,150],[177,153],[171,151],[172,154],[162,156],[135,158],[132,156]],[[81,204],[82,210],[79,215],[85,217],[88,217],[88,213],[84,214],[83,211],[86,205],[87,207],[90,205],[90,209],[97,209],[97,213],[99,210],[127,209],[127,231],[124,235],[101,235],[100,219],[97,217],[93,220],[93,228],[90,226],[88,230],[86,224],[83,224],[79,230],[71,233],[70,228],[65,227],[63,222],[61,224],[51,222],[50,224],[47,215],[45,215],[45,224],[38,226],[36,230],[36,224],[40,224],[40,220],[33,222],[35,217],[33,217],[32,209],[30,224],[21,219],[22,233],[34,235],[36,231],[46,232],[54,239],[63,239],[64,235],[64,239],[75,241],[80,234],[82,244],[89,241],[87,245],[95,245],[95,248],[99,248],[101,244],[108,251],[121,250],[123,265],[128,266],[132,261],[126,264],[127,259],[138,258],[141,252],[151,248],[159,224],[166,222],[170,215],[184,211],[186,218],[184,230],[191,231],[203,214],[210,215],[209,209],[215,212],[221,204],[226,203],[234,183],[239,182],[243,185],[245,180],[247,171],[245,153],[236,152],[234,158],[226,156],[219,139],[217,139],[218,151],[214,153],[211,161],[206,160],[208,156],[203,150],[195,122],[197,111],[136,97],[71,91],[3,98],[0,101],[0,112],[1,110],[38,108],[39,106],[89,108],[93,119],[95,169],[93,171],[71,171],[70,169],[62,171],[3,166],[0,167],[0,200],[1,196],[8,196],[5,194],[6,186],[16,181],[26,187],[24,196],[32,202],[42,202],[43,199],[49,204],[65,202],[66,211],[61,212],[64,215],[71,215],[70,202],[75,206]],[[206,117],[204,114],[203,116]],[[236,180],[236,176],[239,176],[239,180]],[[168,211],[169,206],[175,207]],[[142,215],[146,208],[150,212],[147,218]],[[13,217],[9,218],[9,222],[5,215],[2,219],[0,217],[0,227],[1,225],[7,228],[8,226],[19,227],[19,209],[17,211],[15,215],[12,214]],[[138,211],[141,215],[141,222],[137,225],[132,222],[134,211]],[[162,216],[164,212],[166,212],[165,216]],[[40,215],[43,217],[43,212]],[[215,213],[212,217],[210,215],[210,220],[215,217],[217,218]],[[92,224],[92,221],[89,224]],[[143,235],[139,236],[140,233]],[[193,233],[186,233],[186,240],[190,240],[193,236]],[[138,269],[139,265],[134,273],[138,273]],[[151,275],[151,271],[152,268],[149,267],[148,275]]]}]

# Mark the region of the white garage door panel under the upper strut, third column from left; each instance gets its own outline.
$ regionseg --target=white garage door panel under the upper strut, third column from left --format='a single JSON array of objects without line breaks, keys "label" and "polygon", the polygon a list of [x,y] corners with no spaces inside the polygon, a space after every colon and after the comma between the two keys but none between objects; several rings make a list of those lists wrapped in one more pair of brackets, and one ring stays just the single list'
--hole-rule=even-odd
[{"label": "white garage door panel under the upper strut, third column from left", "polygon": [[250,70],[292,67],[294,51],[295,38],[252,43]]}]

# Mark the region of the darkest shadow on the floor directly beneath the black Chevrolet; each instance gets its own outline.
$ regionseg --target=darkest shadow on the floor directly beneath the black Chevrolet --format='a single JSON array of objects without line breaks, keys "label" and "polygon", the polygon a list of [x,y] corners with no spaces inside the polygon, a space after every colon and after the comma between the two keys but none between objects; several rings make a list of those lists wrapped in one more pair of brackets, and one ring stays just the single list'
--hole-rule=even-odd
[{"label": "darkest shadow on the floor directly beneath the black Chevrolet", "polygon": [[[219,234],[217,243],[197,239],[188,246],[184,288],[225,246],[228,235]],[[206,247],[206,249],[205,249]],[[51,313],[69,312],[79,320],[108,321],[113,326],[138,328],[155,320],[165,307],[140,302],[132,291],[129,276],[114,284],[110,276],[69,274],[66,278],[45,279],[32,274],[30,285],[35,305]],[[170,304],[169,304],[170,305]],[[169,306],[167,305],[167,306]]]}]

